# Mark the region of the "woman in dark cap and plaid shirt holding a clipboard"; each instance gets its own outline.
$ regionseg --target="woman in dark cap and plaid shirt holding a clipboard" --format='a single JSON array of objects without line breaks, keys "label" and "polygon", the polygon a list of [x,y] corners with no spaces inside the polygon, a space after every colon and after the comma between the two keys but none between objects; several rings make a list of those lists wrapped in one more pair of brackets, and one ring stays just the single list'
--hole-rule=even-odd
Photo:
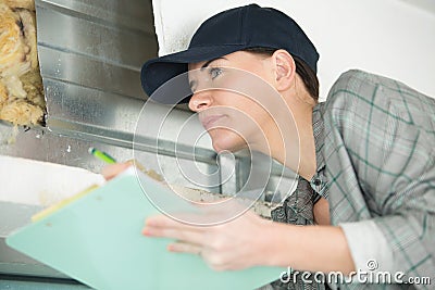
[{"label": "woman in dark cap and plaid shirt holding a clipboard", "polygon": [[[316,224],[274,223],[247,212],[228,223],[197,227],[161,215],[147,219],[144,235],[176,239],[171,251],[199,253],[221,270],[274,265],[345,275],[402,274],[393,282],[433,277],[435,101],[395,80],[350,71],[319,104],[318,59],[291,18],[251,4],[214,15],[186,51],[144,65],[147,93],[164,103],[188,101],[217,152],[250,146],[300,175],[298,200],[288,198],[272,214],[275,220]],[[178,88],[176,97],[159,91],[186,72],[186,88]],[[222,89],[243,79],[233,77],[234,72],[260,77],[269,87],[252,90],[254,97]],[[268,108],[276,101],[268,99],[273,93],[284,105]],[[237,127],[243,116],[223,111],[228,108],[252,119],[266,143],[256,141],[259,134]],[[105,175],[110,178],[123,166],[108,168]],[[311,216],[300,218],[299,210],[307,205]]]}]

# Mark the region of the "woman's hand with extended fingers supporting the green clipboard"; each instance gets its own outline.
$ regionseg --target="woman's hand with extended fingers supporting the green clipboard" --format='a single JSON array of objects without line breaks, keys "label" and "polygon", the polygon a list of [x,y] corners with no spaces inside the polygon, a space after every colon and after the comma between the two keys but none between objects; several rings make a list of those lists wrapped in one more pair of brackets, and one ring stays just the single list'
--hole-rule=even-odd
[{"label": "woman's hand with extended fingers supporting the green clipboard", "polygon": [[271,223],[250,211],[214,226],[187,225],[158,215],[146,220],[142,234],[176,239],[169,251],[199,254],[215,270],[235,270],[265,264],[264,232]]}]

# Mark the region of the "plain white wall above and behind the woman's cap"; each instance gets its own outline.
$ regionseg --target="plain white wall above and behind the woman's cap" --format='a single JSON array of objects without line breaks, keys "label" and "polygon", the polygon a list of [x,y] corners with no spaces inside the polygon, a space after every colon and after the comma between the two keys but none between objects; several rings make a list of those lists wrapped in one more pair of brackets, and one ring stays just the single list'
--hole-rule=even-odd
[{"label": "plain white wall above and behind the woman's cap", "polygon": [[286,12],[309,35],[321,54],[322,99],[349,68],[396,78],[435,98],[435,1],[153,0],[159,53],[185,49],[203,20],[251,2]]}]

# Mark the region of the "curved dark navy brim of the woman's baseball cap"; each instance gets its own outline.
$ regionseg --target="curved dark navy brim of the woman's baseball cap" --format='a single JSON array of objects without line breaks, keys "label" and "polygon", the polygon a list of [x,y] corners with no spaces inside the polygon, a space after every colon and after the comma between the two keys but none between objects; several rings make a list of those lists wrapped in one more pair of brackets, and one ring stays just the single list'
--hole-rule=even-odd
[{"label": "curved dark navy brim of the woman's baseball cap", "polygon": [[[181,52],[167,54],[147,61],[140,72],[140,80],[145,92],[157,102],[176,104],[188,102],[191,91],[187,74],[177,79],[176,89],[179,94],[154,93],[163,84],[188,71],[189,63],[202,62],[220,58],[247,48],[246,46],[196,47]],[[165,90],[165,92],[167,92]]]}]

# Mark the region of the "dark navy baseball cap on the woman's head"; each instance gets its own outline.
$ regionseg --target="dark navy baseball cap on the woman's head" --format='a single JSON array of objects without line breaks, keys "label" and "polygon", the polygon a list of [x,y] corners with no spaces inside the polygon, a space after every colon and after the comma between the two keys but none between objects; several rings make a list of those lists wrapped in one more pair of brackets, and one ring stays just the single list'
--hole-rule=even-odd
[{"label": "dark navy baseball cap on the woman's head", "polygon": [[209,61],[249,48],[284,49],[308,64],[314,73],[318,71],[319,53],[293,18],[276,9],[249,4],[223,11],[204,21],[194,34],[187,50],[147,61],[140,74],[142,88],[152,100],[161,103],[188,102],[191,91],[187,74],[178,80],[183,83],[183,88],[177,88],[185,96],[167,93],[167,90],[154,92],[167,80],[186,73],[189,63]]}]

